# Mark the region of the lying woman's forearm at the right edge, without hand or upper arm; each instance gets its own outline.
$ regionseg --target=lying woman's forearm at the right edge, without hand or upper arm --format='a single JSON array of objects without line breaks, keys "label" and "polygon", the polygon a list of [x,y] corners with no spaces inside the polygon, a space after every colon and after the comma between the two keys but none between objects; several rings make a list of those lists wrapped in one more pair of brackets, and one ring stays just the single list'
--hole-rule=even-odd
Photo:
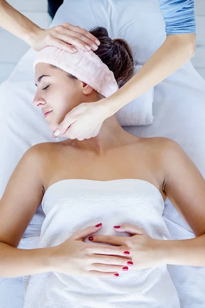
[{"label": "lying woman's forearm at the right edge, without hand or upper arm", "polygon": [[205,235],[189,240],[160,241],[162,260],[167,264],[205,266]]}]

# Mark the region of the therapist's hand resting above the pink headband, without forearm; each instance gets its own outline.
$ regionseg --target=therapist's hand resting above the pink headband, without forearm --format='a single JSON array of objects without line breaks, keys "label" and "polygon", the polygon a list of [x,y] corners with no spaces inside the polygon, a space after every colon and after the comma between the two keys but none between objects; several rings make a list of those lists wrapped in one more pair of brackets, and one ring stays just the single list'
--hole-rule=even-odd
[{"label": "therapist's hand resting above the pink headband, without forearm", "polygon": [[49,29],[38,28],[32,37],[30,46],[39,51],[47,46],[75,53],[79,47],[84,51],[96,50],[100,42],[86,29],[64,23]]}]

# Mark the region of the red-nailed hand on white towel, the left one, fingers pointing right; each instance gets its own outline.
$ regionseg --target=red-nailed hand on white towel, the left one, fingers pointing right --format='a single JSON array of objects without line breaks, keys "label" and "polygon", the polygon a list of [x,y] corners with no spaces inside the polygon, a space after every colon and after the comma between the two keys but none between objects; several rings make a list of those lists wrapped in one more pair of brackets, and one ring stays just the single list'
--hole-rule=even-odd
[{"label": "red-nailed hand on white towel, the left one, fingers pointing right", "polygon": [[[51,247],[49,271],[81,277],[109,278],[131,265],[123,246],[85,243],[84,239],[97,232],[101,225],[75,232],[65,242]],[[124,268],[124,269],[123,269]]]}]

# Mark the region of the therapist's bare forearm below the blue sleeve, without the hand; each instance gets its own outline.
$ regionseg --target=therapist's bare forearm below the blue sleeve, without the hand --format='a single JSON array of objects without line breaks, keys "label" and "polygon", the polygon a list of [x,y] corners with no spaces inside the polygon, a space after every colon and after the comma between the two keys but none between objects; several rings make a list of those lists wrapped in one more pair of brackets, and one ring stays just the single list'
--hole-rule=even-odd
[{"label": "therapist's bare forearm below the blue sleeve, without the hand", "polygon": [[195,33],[168,35],[147,63],[117,92],[105,99],[110,115],[185,64],[195,52]]}]

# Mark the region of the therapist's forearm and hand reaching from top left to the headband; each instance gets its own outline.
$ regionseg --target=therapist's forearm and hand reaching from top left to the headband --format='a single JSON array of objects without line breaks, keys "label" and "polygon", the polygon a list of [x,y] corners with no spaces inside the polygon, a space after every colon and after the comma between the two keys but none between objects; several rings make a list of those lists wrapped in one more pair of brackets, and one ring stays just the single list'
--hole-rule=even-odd
[{"label": "therapist's forearm and hand reaching from top left to the headband", "polygon": [[88,51],[96,50],[100,44],[90,32],[69,23],[42,29],[5,0],[0,0],[0,27],[21,38],[37,51],[47,46],[55,46],[74,53],[77,50],[73,46]]}]

